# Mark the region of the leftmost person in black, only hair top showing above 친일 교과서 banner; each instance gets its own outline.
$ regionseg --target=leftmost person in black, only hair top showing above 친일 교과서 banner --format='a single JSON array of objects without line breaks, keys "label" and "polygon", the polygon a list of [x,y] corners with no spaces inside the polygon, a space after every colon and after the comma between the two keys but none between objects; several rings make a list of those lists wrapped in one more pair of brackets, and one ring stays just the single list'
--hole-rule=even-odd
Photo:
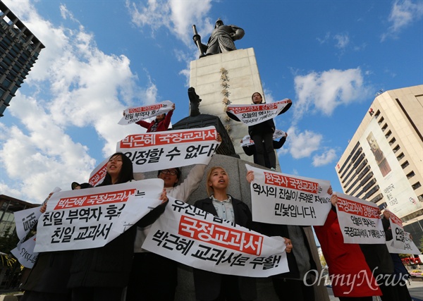
[{"label": "leftmost person in black, only hair top showing above \uce5c\uc77c \uad50\uacfc\uc11c banner", "polygon": [[[92,188],[88,183],[73,182],[72,189]],[[39,211],[44,213],[50,193]],[[32,267],[25,283],[20,287],[25,290],[23,301],[70,301],[71,290],[67,288],[73,251],[41,252]]]}]

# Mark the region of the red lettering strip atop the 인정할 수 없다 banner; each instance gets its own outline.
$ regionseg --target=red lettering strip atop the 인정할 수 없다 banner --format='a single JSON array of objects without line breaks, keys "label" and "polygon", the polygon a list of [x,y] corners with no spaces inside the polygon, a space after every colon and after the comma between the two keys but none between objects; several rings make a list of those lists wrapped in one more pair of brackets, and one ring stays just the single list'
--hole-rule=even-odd
[{"label": "red lettering strip atop the \uc778\uc815\ud560 \uc218 \uc5c6\ub2e4 banner", "polygon": [[119,142],[122,149],[151,147],[178,143],[195,143],[216,140],[216,130],[187,130],[179,133],[146,133],[129,135]]}]

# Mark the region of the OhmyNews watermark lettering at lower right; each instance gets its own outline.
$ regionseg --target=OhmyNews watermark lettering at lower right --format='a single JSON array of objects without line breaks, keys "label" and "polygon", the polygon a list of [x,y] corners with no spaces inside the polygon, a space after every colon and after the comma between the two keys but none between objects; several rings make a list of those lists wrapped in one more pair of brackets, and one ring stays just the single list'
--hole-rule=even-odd
[{"label": "OhmyNews watermark lettering at lower right", "polygon": [[[375,274],[377,267],[373,270],[373,275]],[[326,272],[325,272],[326,271]],[[367,270],[359,271],[357,274],[331,274],[327,272],[327,268],[324,268],[320,271],[315,269],[307,271],[302,282],[307,286],[312,286],[314,284],[321,284],[321,281],[324,281],[324,285],[326,283],[332,283],[333,286],[347,286],[350,288],[348,292],[344,292],[345,295],[351,293],[353,288],[359,287],[368,287],[374,291],[379,289],[379,285],[386,285],[386,286],[395,286],[395,285],[406,285],[409,275],[404,274],[400,277],[395,277],[393,274],[379,274],[373,276],[367,272]],[[307,278],[310,276],[314,276],[314,281],[307,281]],[[379,285],[378,285],[379,283]]]}]

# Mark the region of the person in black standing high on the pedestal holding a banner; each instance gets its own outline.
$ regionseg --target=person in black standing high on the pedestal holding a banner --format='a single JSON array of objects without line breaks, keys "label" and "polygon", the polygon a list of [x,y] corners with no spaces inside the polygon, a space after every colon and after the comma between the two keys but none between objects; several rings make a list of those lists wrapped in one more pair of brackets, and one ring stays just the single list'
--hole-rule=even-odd
[{"label": "person in black standing high on the pedestal holding a banner", "polygon": [[[262,104],[263,97],[259,92],[252,94],[252,102],[254,104]],[[250,125],[248,127],[248,134],[254,141],[256,149],[257,162],[255,163],[266,166],[265,155],[269,157],[269,166],[272,170],[276,168],[276,154],[273,147],[273,134],[275,132],[275,123],[273,119],[263,121],[256,125]]]}]

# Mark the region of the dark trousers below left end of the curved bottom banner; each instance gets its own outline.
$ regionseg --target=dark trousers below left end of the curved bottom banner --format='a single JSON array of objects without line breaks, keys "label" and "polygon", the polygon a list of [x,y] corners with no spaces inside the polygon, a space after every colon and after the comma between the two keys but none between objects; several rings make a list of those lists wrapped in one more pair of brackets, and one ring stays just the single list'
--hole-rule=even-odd
[{"label": "dark trousers below left end of the curved bottom banner", "polygon": [[126,301],[173,301],[178,284],[177,263],[160,255],[135,253]]}]

